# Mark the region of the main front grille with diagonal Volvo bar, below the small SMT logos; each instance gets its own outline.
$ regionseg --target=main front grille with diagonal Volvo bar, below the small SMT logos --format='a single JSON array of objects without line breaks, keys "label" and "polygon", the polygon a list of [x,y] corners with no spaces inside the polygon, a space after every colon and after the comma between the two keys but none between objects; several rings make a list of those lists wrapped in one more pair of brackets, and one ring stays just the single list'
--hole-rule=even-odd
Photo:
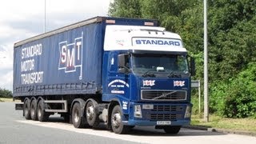
[{"label": "main front grille with diagonal Volvo bar, below the small SMT logos", "polygon": [[185,90],[142,90],[143,100],[154,101],[183,101],[186,100]]}]

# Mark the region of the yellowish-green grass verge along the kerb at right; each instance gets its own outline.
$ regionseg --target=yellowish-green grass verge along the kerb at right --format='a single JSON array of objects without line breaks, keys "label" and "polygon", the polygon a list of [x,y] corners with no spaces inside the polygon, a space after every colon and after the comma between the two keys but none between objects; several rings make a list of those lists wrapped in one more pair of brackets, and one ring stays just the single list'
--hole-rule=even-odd
[{"label": "yellowish-green grass verge along the kerb at right", "polygon": [[209,126],[218,129],[256,133],[256,118],[222,118],[217,115],[210,115],[209,122],[204,122],[202,116],[193,115],[191,120],[192,126]]}]

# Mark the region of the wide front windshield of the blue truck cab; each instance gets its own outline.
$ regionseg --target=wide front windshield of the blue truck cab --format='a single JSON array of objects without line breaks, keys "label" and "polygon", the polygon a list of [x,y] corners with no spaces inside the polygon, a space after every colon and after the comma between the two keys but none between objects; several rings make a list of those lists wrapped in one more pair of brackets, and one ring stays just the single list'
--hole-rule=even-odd
[{"label": "wide front windshield of the blue truck cab", "polygon": [[132,54],[134,74],[189,74],[186,55]]}]

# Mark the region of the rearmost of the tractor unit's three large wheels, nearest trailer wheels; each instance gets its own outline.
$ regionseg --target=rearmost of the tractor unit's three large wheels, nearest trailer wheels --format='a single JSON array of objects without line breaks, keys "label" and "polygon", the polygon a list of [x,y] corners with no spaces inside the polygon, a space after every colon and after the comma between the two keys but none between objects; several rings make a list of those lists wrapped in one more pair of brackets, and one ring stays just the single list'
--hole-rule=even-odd
[{"label": "rearmost of the tractor unit's three large wheels, nearest trailer wheels", "polygon": [[82,117],[81,106],[78,102],[74,103],[72,109],[72,123],[76,128],[82,128],[86,126],[86,118]]}]

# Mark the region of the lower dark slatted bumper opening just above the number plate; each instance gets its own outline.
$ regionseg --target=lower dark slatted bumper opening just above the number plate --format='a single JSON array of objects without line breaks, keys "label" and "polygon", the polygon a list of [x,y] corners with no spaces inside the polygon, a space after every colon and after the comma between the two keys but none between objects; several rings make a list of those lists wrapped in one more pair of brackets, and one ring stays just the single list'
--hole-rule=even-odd
[{"label": "lower dark slatted bumper opening just above the number plate", "polygon": [[150,114],[150,121],[176,121],[182,114]]}]

